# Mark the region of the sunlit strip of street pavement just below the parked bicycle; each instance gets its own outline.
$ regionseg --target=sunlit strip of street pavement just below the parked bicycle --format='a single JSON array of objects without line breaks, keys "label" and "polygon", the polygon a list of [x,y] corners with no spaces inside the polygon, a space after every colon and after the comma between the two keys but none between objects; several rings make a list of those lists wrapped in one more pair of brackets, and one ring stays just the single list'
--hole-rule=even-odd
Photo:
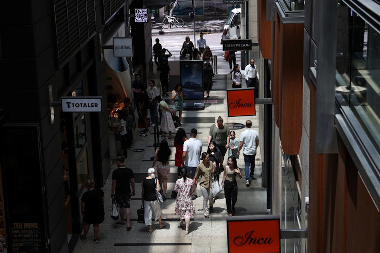
[{"label": "sunlit strip of street pavement just below the parked bicycle", "polygon": [[[182,28],[176,28],[172,25],[172,28],[169,28],[168,25],[164,29],[161,28],[161,22],[156,21],[156,24],[152,24],[152,35],[158,34],[167,34],[167,33],[189,33],[194,32],[194,21],[188,18],[182,18],[184,25]],[[195,21],[195,31],[196,32],[222,32],[226,18],[221,20],[202,20]]]}]

